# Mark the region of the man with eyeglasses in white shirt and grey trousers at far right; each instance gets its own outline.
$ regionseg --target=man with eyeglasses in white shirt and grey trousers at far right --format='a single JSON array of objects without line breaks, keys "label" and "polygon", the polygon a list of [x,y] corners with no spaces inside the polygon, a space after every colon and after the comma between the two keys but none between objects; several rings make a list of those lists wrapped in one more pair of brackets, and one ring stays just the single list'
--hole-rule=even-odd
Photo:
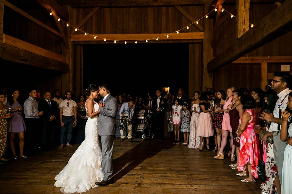
[{"label": "man with eyeglasses in white shirt and grey trousers at far right", "polygon": [[289,72],[276,72],[271,81],[271,89],[277,92],[279,99],[276,102],[273,115],[263,112],[264,117],[262,119],[271,122],[270,129],[273,131],[273,152],[275,156],[277,166],[276,179],[280,182],[282,180],[282,167],[284,160],[284,151],[287,146],[286,142],[282,142],[280,139],[280,129],[282,124],[281,112],[287,107],[288,94],[292,91],[289,89],[292,83],[292,76]]}]

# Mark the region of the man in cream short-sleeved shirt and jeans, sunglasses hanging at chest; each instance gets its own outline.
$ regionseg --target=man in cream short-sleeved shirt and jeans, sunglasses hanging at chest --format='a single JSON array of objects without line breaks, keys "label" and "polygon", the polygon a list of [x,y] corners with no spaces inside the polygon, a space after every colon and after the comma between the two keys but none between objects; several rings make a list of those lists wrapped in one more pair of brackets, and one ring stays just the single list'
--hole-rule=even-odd
[{"label": "man in cream short-sleeved shirt and jeans, sunglasses hanging at chest", "polygon": [[59,149],[62,149],[65,145],[65,132],[68,127],[68,135],[67,135],[67,144],[66,147],[72,148],[70,144],[72,138],[73,127],[77,124],[77,103],[71,99],[72,92],[66,91],[65,96],[66,99],[60,102],[60,121],[61,121],[61,136],[60,142],[61,145]]}]

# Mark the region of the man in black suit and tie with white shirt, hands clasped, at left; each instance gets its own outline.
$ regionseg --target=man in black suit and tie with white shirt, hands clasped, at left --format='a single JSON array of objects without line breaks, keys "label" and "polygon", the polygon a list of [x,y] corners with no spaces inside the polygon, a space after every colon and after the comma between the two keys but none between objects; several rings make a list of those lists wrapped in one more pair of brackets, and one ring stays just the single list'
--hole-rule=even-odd
[{"label": "man in black suit and tie with white shirt, hands clasped, at left", "polygon": [[42,126],[42,148],[44,152],[47,152],[47,150],[53,150],[55,122],[59,109],[57,102],[51,100],[52,96],[50,92],[45,92],[43,97],[45,99],[39,102],[39,111],[43,111],[43,116],[40,118]]}]

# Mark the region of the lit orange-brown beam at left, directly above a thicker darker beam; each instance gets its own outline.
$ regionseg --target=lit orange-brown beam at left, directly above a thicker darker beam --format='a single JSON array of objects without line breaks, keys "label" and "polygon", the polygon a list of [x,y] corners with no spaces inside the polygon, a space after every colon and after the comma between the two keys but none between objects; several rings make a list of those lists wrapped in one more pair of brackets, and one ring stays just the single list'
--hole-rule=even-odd
[{"label": "lit orange-brown beam at left, directly above a thicker darker beam", "polygon": [[3,34],[3,43],[7,44],[7,45],[14,46],[14,47],[22,49],[22,50],[26,50],[28,52],[35,53],[37,55],[41,55],[43,57],[54,59],[56,61],[60,61],[63,63],[68,63],[67,59],[62,55],[58,55],[57,53],[48,51],[48,50],[43,49],[41,47],[38,47],[36,45],[25,42],[23,40],[19,40],[18,38],[14,38],[14,37],[9,36],[7,34]]}]

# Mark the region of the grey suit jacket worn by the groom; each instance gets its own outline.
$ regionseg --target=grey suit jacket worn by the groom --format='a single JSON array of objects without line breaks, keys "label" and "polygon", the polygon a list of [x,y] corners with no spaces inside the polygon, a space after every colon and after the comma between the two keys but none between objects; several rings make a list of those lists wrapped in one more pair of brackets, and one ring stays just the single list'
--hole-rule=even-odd
[{"label": "grey suit jacket worn by the groom", "polygon": [[116,112],[118,110],[116,99],[108,95],[104,103],[104,108],[100,108],[98,117],[98,135],[115,135]]}]

